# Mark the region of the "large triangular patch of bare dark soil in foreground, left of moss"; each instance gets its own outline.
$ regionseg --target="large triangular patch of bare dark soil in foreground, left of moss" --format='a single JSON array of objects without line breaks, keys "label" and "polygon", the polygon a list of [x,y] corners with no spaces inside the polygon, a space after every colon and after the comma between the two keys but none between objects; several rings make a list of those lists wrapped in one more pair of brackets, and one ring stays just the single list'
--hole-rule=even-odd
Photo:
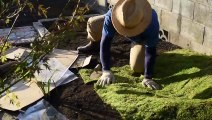
[{"label": "large triangular patch of bare dark soil in foreground, left of moss", "polygon": [[93,83],[79,78],[51,92],[49,102],[70,120],[119,120],[118,111],[105,104],[94,90]]}]

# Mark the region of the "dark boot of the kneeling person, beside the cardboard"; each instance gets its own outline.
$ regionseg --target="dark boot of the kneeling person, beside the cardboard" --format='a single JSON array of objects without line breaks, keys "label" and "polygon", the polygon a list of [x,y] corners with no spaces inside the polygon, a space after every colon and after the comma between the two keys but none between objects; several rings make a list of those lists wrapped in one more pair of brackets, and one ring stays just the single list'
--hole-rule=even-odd
[{"label": "dark boot of the kneeling person, beside the cardboard", "polygon": [[79,53],[84,53],[84,54],[96,54],[99,53],[99,47],[100,43],[99,42],[89,42],[85,46],[80,46],[77,48],[77,51]]}]

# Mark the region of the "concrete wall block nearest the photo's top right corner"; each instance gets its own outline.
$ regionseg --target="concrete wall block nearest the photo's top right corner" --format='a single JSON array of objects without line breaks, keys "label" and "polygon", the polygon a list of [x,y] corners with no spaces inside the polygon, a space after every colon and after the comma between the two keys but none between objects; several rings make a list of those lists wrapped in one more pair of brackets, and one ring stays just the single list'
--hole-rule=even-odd
[{"label": "concrete wall block nearest the photo's top right corner", "polygon": [[194,9],[194,21],[201,24],[206,24],[208,13],[209,6],[196,3]]}]

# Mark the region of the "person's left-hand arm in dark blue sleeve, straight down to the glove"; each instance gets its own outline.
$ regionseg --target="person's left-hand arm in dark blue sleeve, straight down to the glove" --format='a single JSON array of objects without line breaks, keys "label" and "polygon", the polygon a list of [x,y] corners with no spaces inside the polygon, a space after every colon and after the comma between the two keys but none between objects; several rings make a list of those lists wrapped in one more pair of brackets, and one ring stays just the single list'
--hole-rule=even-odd
[{"label": "person's left-hand arm in dark blue sleeve, straight down to the glove", "polygon": [[109,10],[107,14],[105,14],[105,20],[102,30],[102,38],[100,43],[100,60],[102,63],[102,70],[110,70],[110,59],[111,59],[111,53],[110,53],[110,47],[111,43],[115,34],[115,28],[113,27],[112,21],[111,21],[111,12],[112,10]]}]

